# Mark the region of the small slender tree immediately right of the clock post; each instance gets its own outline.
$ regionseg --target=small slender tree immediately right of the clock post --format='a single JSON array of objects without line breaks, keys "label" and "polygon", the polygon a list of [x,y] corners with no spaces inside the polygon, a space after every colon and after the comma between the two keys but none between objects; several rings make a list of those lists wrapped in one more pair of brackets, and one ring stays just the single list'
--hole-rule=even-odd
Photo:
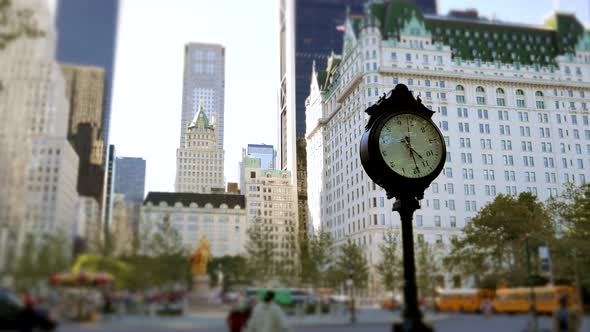
[{"label": "small slender tree immediately right of the clock post", "polygon": [[432,298],[437,286],[437,276],[441,272],[438,258],[432,245],[424,240],[418,240],[416,250],[416,286],[420,297]]}]

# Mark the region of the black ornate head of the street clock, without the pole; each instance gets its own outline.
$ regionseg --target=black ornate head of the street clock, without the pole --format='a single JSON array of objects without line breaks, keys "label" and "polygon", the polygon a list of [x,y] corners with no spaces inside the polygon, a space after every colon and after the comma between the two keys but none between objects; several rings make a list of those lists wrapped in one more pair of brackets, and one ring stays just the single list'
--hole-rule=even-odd
[{"label": "black ornate head of the street clock, without the pole", "polygon": [[388,198],[422,199],[446,158],[445,141],[432,121],[434,112],[403,84],[366,112],[370,118],[360,144],[365,172]]}]

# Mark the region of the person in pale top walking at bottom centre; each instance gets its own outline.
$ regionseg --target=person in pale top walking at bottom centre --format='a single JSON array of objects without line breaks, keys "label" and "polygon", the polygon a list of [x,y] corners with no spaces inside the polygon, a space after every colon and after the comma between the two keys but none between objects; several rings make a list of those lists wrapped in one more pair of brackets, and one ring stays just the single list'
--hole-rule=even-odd
[{"label": "person in pale top walking at bottom centre", "polygon": [[256,304],[248,321],[248,332],[286,332],[290,330],[285,314],[274,302],[274,297],[275,293],[268,291],[264,295],[264,300]]}]

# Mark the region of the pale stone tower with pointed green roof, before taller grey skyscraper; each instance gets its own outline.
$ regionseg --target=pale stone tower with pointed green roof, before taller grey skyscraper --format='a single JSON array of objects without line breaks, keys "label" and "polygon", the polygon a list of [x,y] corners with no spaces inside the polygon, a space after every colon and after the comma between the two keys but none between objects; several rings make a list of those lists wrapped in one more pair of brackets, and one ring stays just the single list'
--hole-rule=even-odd
[{"label": "pale stone tower with pointed green roof, before taller grey skyscraper", "polygon": [[176,152],[176,192],[223,191],[223,150],[203,104],[184,133],[184,144]]}]

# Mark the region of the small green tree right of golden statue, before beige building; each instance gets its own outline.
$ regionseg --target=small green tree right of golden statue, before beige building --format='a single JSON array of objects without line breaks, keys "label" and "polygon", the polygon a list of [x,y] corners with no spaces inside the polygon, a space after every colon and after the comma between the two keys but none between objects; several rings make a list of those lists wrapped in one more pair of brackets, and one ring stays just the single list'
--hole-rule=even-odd
[{"label": "small green tree right of golden statue, before beige building", "polygon": [[275,278],[274,247],[262,226],[258,223],[247,230],[246,260],[248,262],[247,275],[256,284],[265,286]]}]

